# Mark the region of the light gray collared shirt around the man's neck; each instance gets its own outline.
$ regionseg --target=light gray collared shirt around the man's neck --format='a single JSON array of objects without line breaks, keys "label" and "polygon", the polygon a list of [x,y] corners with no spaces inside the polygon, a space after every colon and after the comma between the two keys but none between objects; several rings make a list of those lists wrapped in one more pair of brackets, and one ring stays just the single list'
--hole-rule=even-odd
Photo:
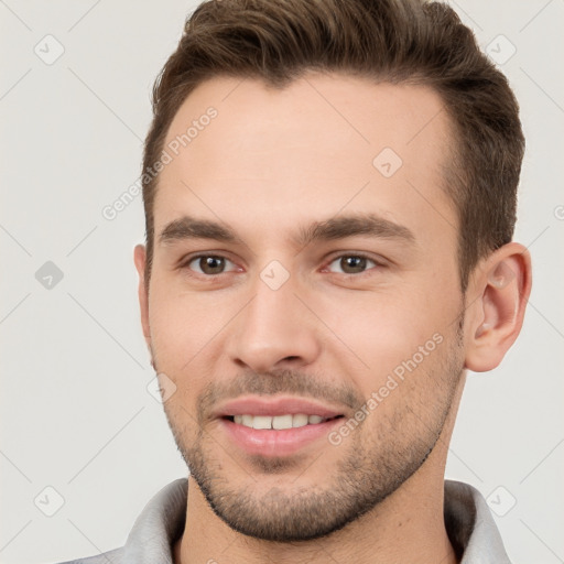
[{"label": "light gray collared shirt around the man's neck", "polygon": [[[135,520],[126,545],[62,564],[173,564],[172,547],[186,519],[188,480],[154,496]],[[460,564],[511,564],[486,500],[474,487],[445,480],[445,528]]]}]

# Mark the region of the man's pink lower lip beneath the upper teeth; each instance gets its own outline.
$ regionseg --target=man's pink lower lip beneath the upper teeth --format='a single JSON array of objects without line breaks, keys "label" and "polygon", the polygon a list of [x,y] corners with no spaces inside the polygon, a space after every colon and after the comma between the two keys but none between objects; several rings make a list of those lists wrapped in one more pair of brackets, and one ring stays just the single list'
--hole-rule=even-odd
[{"label": "man's pink lower lip beneath the upper teeth", "polygon": [[227,419],[221,419],[220,423],[231,440],[246,453],[274,457],[294,454],[322,437],[326,438],[330,430],[341,423],[341,419],[280,431],[251,429]]}]

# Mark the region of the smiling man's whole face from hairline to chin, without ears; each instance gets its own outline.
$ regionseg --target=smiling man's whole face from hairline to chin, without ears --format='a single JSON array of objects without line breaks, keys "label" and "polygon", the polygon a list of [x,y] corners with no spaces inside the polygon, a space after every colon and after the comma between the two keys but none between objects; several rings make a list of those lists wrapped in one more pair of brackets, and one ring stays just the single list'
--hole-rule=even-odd
[{"label": "smiling man's whole face from hairline to chin, without ears", "polygon": [[443,432],[464,301],[441,110],[430,89],[340,75],[215,78],[171,126],[145,333],[178,448],[238,531],[328,534]]}]

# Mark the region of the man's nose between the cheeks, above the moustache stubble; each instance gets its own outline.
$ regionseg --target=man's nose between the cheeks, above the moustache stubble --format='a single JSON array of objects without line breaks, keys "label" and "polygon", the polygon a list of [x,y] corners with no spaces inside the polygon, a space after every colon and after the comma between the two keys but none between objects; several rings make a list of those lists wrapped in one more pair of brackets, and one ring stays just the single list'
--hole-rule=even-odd
[{"label": "man's nose between the cheeks, above the moustache stubble", "polygon": [[239,368],[256,372],[297,369],[321,350],[319,327],[299,299],[292,276],[273,290],[257,276],[253,297],[234,319],[228,354]]}]

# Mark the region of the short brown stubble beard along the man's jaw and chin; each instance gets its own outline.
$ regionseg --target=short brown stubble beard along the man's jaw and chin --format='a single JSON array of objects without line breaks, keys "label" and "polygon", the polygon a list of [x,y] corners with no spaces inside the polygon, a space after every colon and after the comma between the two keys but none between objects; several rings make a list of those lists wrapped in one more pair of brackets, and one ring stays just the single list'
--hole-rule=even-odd
[{"label": "short brown stubble beard along the man's jaw and chin", "polygon": [[[402,403],[392,417],[380,417],[377,426],[378,415],[368,415],[344,440],[345,454],[332,473],[323,473],[326,481],[315,487],[300,487],[300,479],[289,477],[286,487],[272,487],[261,494],[261,476],[280,477],[284,471],[303,465],[299,457],[262,456],[249,458],[254,479],[249,476],[247,485],[239,487],[229,479],[229,473],[242,470],[235,463],[229,464],[231,458],[218,448],[215,441],[206,438],[207,432],[202,425],[191,442],[185,432],[189,425],[183,423],[183,415],[186,422],[187,412],[181,409],[174,413],[165,404],[165,414],[192,477],[212,510],[226,524],[242,534],[265,541],[289,543],[319,539],[370,511],[377,511],[378,506],[426,460],[443,432],[463,373],[460,335],[457,337],[448,345],[442,361],[435,362],[433,373],[411,375],[411,378],[423,377],[425,381],[437,382],[440,392],[436,395],[441,400],[433,398],[430,411],[421,415],[408,403]],[[406,420],[414,423],[414,427],[412,424],[408,431],[401,427]],[[399,441],[399,437],[403,440]],[[328,442],[326,447],[334,448]],[[319,459],[323,460],[323,455]],[[307,475],[306,466],[302,475]]]}]

